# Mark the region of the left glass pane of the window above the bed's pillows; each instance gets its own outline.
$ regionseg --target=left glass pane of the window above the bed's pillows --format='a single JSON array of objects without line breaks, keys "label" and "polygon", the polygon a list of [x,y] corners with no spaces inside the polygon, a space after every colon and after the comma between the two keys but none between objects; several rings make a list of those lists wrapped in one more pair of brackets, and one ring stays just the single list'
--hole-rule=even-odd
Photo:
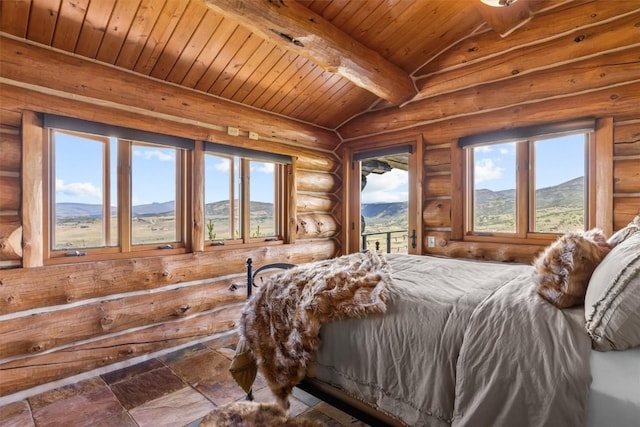
[{"label": "left glass pane of the window above the bed's pillows", "polygon": [[473,231],[516,231],[515,143],[473,148]]}]

